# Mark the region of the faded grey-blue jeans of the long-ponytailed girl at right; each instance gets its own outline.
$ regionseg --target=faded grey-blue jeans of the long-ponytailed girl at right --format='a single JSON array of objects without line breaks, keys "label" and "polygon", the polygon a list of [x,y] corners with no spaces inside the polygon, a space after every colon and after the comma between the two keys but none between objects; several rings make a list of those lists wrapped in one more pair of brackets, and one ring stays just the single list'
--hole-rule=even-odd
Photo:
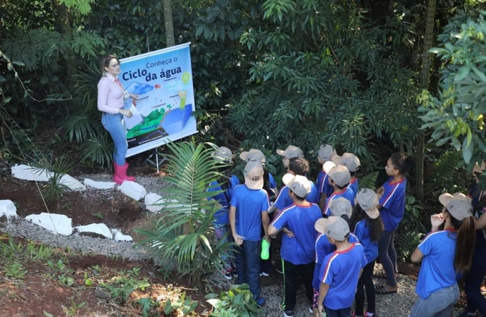
[{"label": "faded grey-blue jeans of the long-ponytailed girl at right", "polygon": [[450,317],[457,302],[459,287],[454,284],[432,292],[427,299],[418,297],[409,317]]}]

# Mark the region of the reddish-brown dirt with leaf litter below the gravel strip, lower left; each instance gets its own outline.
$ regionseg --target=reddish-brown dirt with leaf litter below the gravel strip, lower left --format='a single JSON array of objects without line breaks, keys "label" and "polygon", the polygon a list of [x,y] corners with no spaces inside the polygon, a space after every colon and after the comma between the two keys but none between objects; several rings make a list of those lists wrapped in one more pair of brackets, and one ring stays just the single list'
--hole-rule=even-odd
[{"label": "reddish-brown dirt with leaf litter below the gravel strip, lower left", "polygon": [[[0,239],[0,247],[8,243],[8,238]],[[15,239],[15,244],[18,243],[28,242]],[[165,306],[167,299],[175,302],[182,292],[199,303],[193,316],[203,316],[202,311],[210,306],[205,302],[204,294],[195,290],[187,279],[177,276],[164,278],[149,261],[123,261],[100,255],[63,255],[66,254],[58,250],[56,255],[51,256],[49,261],[54,263],[54,267],[45,260],[23,261],[23,274],[15,277],[7,274],[11,272],[11,263],[6,259],[0,260],[0,316],[143,316],[138,299],[149,297]],[[65,267],[56,264],[59,259]],[[116,284],[122,279],[124,284]],[[87,280],[92,284],[88,284]],[[144,289],[135,286],[126,302],[121,297],[113,298],[113,291],[142,285],[142,282]],[[111,294],[112,298],[96,297],[95,290]],[[179,316],[177,312],[163,313],[160,304],[147,310],[147,316],[156,316],[156,310],[160,316]]]}]

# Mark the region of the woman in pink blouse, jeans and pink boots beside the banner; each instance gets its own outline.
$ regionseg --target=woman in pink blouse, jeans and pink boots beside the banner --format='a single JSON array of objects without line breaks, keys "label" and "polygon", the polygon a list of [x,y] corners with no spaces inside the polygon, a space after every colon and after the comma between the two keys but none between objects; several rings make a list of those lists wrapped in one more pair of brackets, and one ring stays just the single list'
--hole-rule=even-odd
[{"label": "woman in pink blouse, jeans and pink boots beside the banner", "polygon": [[125,180],[135,181],[135,178],[127,176],[128,164],[125,161],[125,156],[128,144],[123,127],[123,116],[130,118],[132,112],[123,108],[123,99],[132,98],[136,101],[138,95],[129,94],[118,80],[120,61],[116,56],[108,55],[101,59],[101,73],[103,77],[98,82],[98,110],[103,113],[101,116],[103,128],[110,133],[115,145],[113,181],[121,185]]}]

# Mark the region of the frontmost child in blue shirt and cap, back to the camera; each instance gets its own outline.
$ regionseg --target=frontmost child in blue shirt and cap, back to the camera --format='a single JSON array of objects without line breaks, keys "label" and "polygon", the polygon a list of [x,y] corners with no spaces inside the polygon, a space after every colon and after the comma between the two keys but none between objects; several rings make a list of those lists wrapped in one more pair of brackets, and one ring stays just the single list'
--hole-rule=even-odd
[{"label": "frontmost child in blue shirt and cap, back to the camera", "polygon": [[[319,220],[328,240],[336,251],[325,257],[320,269],[318,313],[327,317],[351,316],[351,305],[359,276],[366,266],[366,256],[359,243],[348,241],[349,225],[341,217],[331,216]],[[318,224],[316,224],[318,225]]]}]

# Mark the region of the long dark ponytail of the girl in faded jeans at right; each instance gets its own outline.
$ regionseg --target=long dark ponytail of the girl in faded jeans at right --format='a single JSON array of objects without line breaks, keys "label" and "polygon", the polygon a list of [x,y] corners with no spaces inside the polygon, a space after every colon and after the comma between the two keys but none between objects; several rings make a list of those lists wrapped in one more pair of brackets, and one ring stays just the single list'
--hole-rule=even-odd
[{"label": "long dark ponytail of the girl in faded jeans at right", "polygon": [[[447,211],[449,213],[449,211]],[[466,273],[471,268],[473,261],[474,244],[476,240],[476,231],[474,228],[474,218],[466,217],[463,220],[457,220],[451,216],[451,224],[456,233],[456,251],[454,254],[454,268],[456,272]]]}]

